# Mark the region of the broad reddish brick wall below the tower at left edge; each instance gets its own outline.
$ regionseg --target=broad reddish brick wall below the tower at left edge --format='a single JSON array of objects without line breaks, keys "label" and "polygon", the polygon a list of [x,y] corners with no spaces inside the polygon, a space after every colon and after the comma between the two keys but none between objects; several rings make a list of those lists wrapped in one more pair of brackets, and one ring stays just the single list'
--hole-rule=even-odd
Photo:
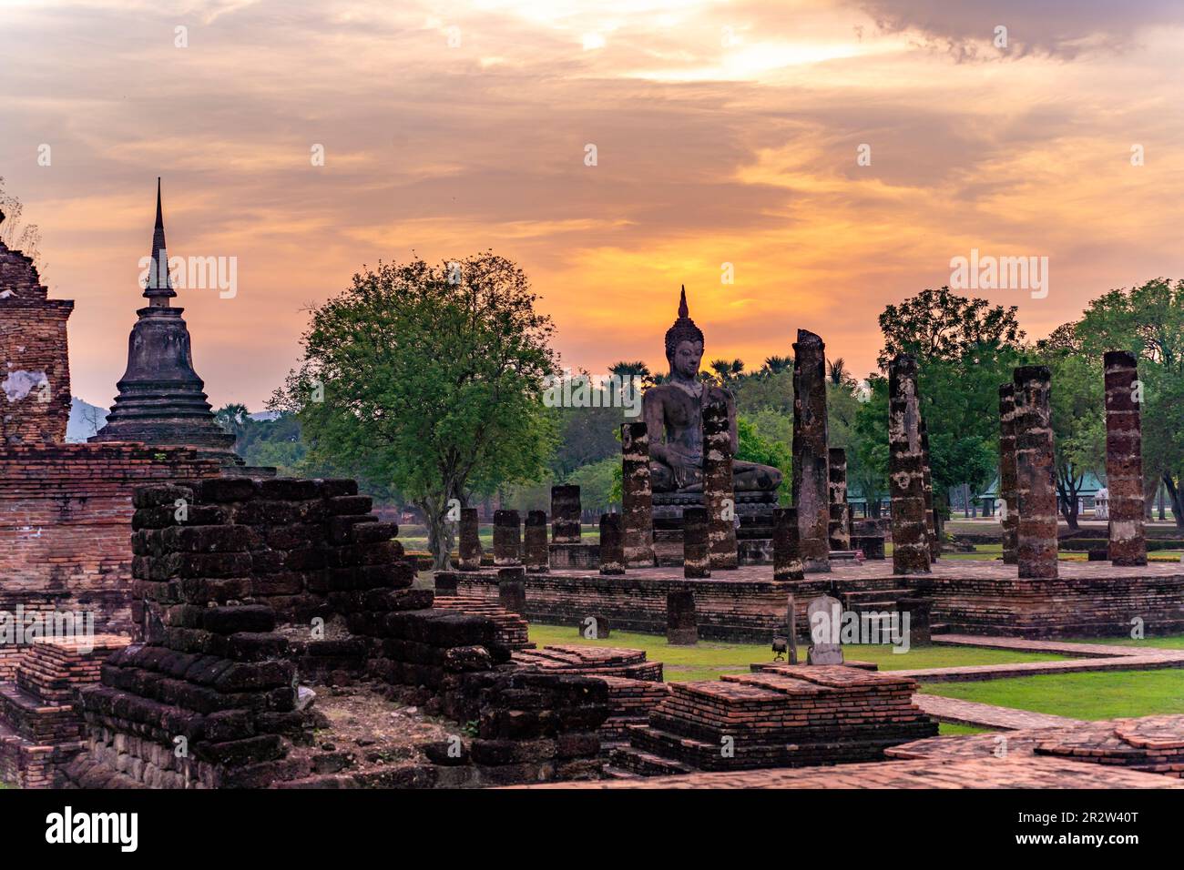
[{"label": "broad reddish brick wall below the tower at left edge", "polygon": [[[219,473],[188,449],[56,444],[0,449],[0,610],[94,613],[131,631],[131,491]],[[0,653],[0,679],[12,677]]]}]

